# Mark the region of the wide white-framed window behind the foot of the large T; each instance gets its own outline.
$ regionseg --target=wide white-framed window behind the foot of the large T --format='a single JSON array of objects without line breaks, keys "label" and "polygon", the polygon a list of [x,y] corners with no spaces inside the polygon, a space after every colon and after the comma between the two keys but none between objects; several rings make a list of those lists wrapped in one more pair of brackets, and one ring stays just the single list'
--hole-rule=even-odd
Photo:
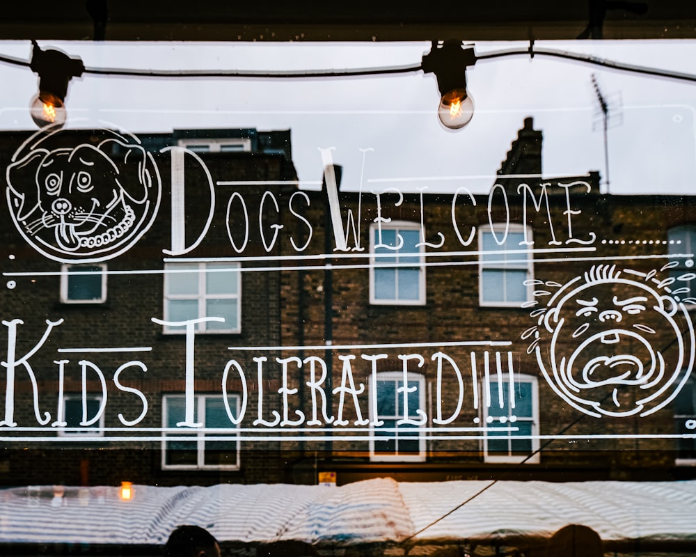
[{"label": "wide white-framed window behind the foot of the large T", "polygon": [[[227,471],[238,471],[241,467],[240,464],[240,449],[241,449],[241,437],[239,434],[239,425],[230,423],[230,429],[237,430],[235,436],[237,441],[226,441],[228,443],[235,443],[235,464],[205,464],[205,401],[207,399],[223,399],[223,395],[212,394],[212,393],[196,393],[193,395],[196,404],[196,416],[200,423],[203,423],[201,428],[193,427],[181,427],[180,431],[174,433],[166,433],[167,428],[167,418],[168,418],[168,405],[167,400],[173,398],[185,398],[186,395],[180,394],[166,394],[162,395],[162,440],[161,440],[161,469],[162,470],[227,470]],[[228,394],[228,399],[234,398],[237,400],[237,409],[239,409],[240,396],[236,393]],[[226,435],[231,435],[231,433],[226,433]],[[196,464],[167,464],[167,438],[169,436],[186,436],[191,437],[191,440],[196,440]],[[211,439],[208,439],[209,441]]]}]

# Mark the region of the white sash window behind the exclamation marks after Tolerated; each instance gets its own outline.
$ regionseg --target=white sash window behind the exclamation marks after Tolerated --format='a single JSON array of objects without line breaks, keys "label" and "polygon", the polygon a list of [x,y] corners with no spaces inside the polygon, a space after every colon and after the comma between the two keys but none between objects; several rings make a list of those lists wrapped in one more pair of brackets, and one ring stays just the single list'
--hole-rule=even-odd
[{"label": "white sash window behind the exclamation marks after Tolerated", "polygon": [[[490,384],[497,384],[498,383],[498,374],[491,374],[489,377],[489,382]],[[507,381],[505,380],[507,379]],[[514,455],[512,454],[512,451],[509,450],[508,448],[508,454],[507,455],[502,455],[500,454],[500,451],[496,451],[496,454],[489,454],[488,451],[488,442],[489,439],[493,439],[496,441],[500,441],[501,439],[508,439],[508,443],[510,439],[514,439],[515,434],[513,432],[509,432],[507,436],[489,436],[489,428],[487,427],[489,421],[489,413],[488,413],[488,406],[486,404],[486,397],[484,393],[485,385],[482,383],[481,385],[481,396],[480,400],[482,401],[481,405],[481,423],[484,425],[484,437],[482,439],[482,452],[483,452],[483,457],[484,457],[484,462],[488,462],[491,464],[495,463],[500,463],[500,464],[539,464],[540,462],[540,455],[539,455],[539,429],[540,429],[540,418],[539,418],[539,380],[537,377],[534,375],[525,375],[525,374],[516,374],[514,376],[514,381],[516,384],[519,384],[521,382],[529,383],[532,386],[532,416],[531,418],[525,418],[525,422],[531,422],[532,423],[532,429],[531,429],[531,445],[532,448],[530,450],[529,454],[525,455]],[[509,385],[509,376],[504,375],[503,376],[503,385],[507,386]],[[491,401],[492,402],[492,401]],[[509,421],[511,412],[509,411],[509,405],[508,405],[508,412],[507,412],[507,423],[514,423]],[[492,417],[492,416],[491,416]],[[517,420],[520,420],[519,416],[516,416]],[[530,457],[530,455],[532,455]],[[526,460],[525,460],[526,459]]]}]

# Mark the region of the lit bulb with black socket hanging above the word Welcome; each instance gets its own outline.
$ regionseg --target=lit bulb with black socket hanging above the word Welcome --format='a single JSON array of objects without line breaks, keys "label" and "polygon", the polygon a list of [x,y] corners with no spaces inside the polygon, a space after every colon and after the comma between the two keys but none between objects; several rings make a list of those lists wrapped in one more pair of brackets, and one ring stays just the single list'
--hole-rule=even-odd
[{"label": "lit bulb with black socket hanging above the word Welcome", "polygon": [[474,103],[466,90],[466,68],[474,65],[473,47],[462,48],[461,42],[433,42],[433,47],[422,59],[422,70],[434,73],[440,90],[438,118],[450,130],[467,125],[474,115]]}]

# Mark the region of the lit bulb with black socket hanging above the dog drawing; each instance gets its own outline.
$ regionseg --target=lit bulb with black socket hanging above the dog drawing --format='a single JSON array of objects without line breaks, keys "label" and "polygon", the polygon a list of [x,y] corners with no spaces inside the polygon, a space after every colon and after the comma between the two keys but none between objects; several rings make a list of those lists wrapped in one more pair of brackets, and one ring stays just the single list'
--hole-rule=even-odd
[{"label": "lit bulb with black socket hanging above the dog drawing", "polygon": [[82,61],[59,50],[42,50],[33,42],[29,67],[39,76],[39,91],[29,104],[31,119],[38,127],[62,127],[68,118],[65,109],[68,83],[84,72]]}]

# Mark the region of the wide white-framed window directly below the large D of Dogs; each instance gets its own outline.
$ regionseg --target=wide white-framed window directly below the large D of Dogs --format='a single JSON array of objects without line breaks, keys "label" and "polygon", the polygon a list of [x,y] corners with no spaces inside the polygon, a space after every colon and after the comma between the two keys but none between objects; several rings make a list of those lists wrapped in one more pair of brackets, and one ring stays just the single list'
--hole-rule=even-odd
[{"label": "wide white-framed window directly below the large D of Dogs", "polygon": [[[171,272],[173,267],[183,267],[184,265],[198,265],[198,270],[194,271],[191,269],[189,272],[198,273],[198,290],[196,295],[192,294],[169,294],[169,284],[171,281],[171,276],[173,274],[178,274],[177,272]],[[206,288],[206,277],[208,270],[208,265],[225,265],[228,267],[235,267],[237,269],[237,292],[235,294],[214,294],[208,295]],[[196,334],[239,334],[242,332],[242,265],[239,262],[224,262],[224,261],[172,261],[166,262],[164,264],[164,295],[163,295],[163,312],[164,321],[171,321],[170,309],[168,302],[171,300],[198,300],[198,312],[194,319],[200,319],[206,317],[205,303],[208,299],[220,298],[220,299],[236,299],[237,300],[237,322],[235,322],[233,327],[228,327],[226,329],[208,329],[207,322],[199,322],[196,324]],[[227,323],[226,323],[227,324]],[[169,325],[164,325],[164,334],[185,334],[186,327],[171,327]]]}]

